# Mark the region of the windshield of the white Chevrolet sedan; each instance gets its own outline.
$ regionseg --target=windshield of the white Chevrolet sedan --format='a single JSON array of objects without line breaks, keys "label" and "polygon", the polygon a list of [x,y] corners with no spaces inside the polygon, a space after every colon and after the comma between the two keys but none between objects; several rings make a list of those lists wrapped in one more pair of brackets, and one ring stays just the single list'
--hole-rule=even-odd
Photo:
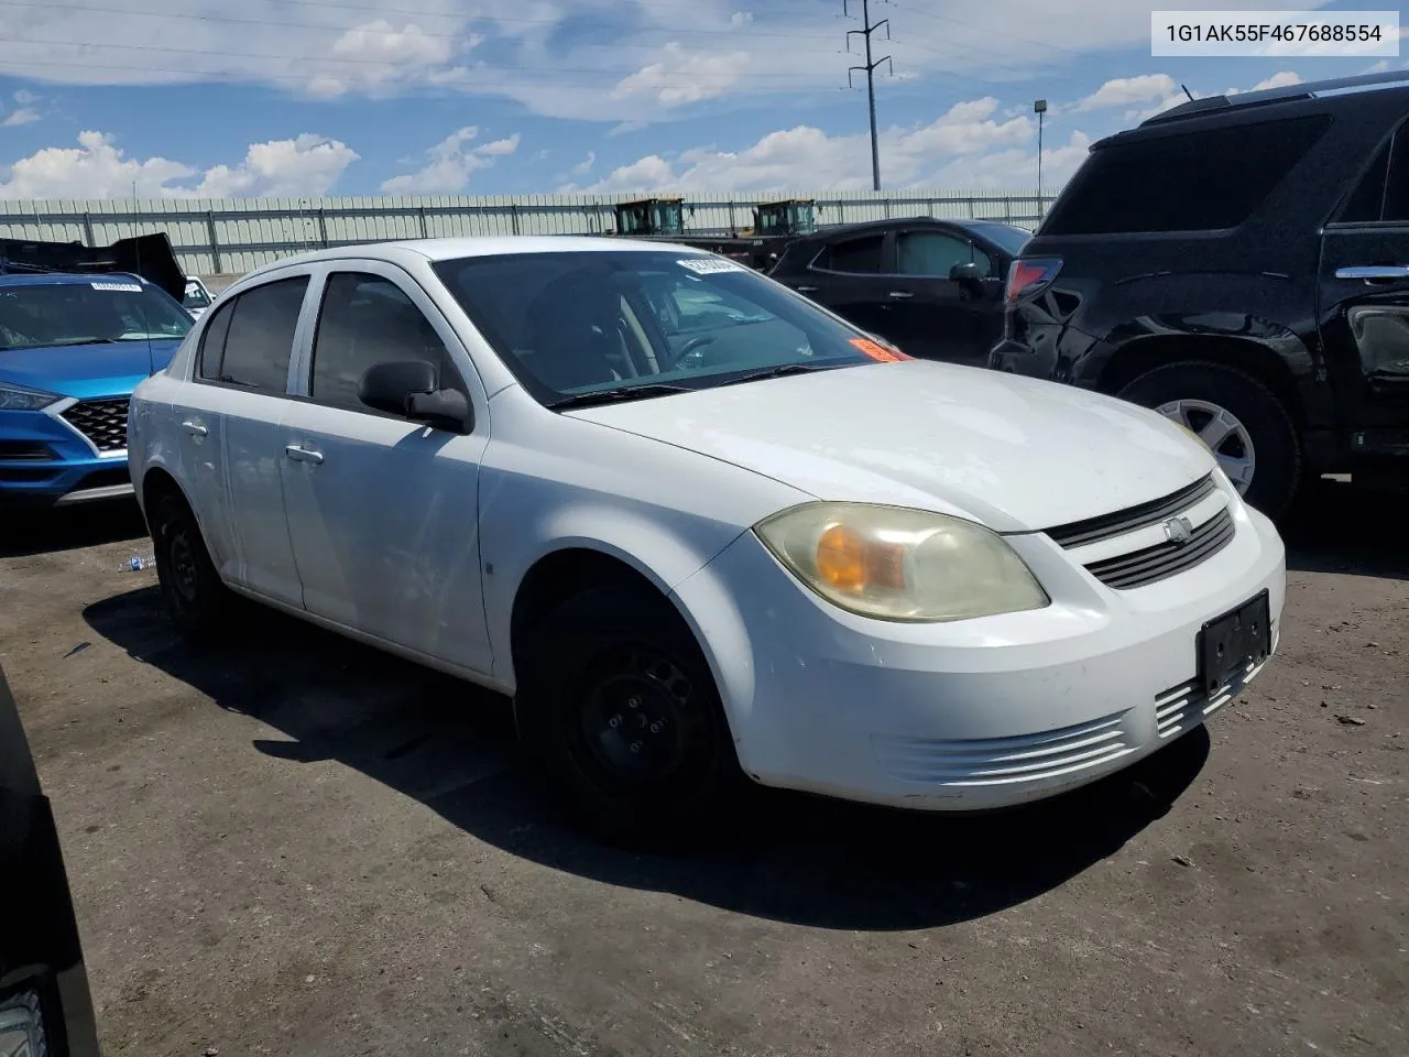
[{"label": "windshield of the white Chevrolet sedan", "polygon": [[509,254],[441,261],[435,271],[514,376],[550,406],[898,358],[713,255]]}]

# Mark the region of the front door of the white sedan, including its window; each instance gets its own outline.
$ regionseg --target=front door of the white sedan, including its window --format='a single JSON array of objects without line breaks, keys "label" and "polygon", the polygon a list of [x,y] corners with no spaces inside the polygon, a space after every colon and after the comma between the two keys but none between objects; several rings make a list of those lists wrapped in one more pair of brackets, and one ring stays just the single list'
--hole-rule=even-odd
[{"label": "front door of the white sedan, including its window", "polygon": [[[471,434],[431,428],[358,399],[369,366],[411,359],[430,361],[442,388],[465,392],[476,414]],[[489,421],[468,354],[400,269],[340,261],[324,280],[306,361],[280,451],[304,606],[426,657],[488,672],[479,464]]]}]

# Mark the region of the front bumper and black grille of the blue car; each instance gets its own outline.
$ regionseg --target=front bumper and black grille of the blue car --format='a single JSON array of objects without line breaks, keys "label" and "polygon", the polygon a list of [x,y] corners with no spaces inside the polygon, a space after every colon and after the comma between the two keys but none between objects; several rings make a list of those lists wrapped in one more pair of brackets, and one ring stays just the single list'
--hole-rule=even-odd
[{"label": "front bumper and black grille of the blue car", "polygon": [[65,399],[39,412],[0,412],[0,506],[130,496],[127,445],[120,440],[125,400]]}]

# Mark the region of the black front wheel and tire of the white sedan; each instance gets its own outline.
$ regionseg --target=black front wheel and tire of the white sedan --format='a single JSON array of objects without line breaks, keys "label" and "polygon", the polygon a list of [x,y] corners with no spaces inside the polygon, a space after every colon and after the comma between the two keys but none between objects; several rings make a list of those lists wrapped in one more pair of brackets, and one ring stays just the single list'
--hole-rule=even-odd
[{"label": "black front wheel and tire of the white sedan", "polygon": [[748,781],[709,664],[669,602],[590,588],[534,631],[517,676],[519,737],[581,823],[652,851],[726,833]]}]

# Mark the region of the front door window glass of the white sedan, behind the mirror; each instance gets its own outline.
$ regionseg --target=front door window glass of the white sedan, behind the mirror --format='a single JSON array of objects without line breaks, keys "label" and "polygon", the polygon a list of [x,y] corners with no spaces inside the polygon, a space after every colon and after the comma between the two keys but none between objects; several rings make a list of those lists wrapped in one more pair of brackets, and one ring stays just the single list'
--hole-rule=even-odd
[{"label": "front door window glass of the white sedan, behind the mirror", "polygon": [[445,344],[400,286],[362,272],[330,275],[313,340],[309,395],[334,407],[366,412],[358,397],[366,369],[407,359],[434,365],[442,388],[465,390]]}]

